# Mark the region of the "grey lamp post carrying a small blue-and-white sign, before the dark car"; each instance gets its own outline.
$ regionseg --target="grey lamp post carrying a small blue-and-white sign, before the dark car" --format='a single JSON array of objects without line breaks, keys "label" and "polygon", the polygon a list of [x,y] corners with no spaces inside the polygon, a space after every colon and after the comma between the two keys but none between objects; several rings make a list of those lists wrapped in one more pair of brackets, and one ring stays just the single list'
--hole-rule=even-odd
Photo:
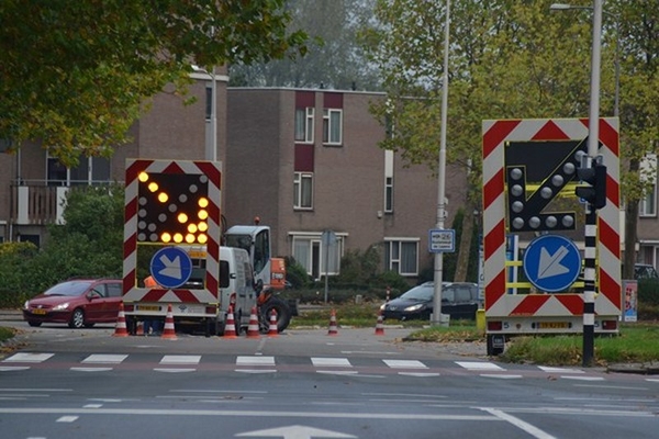
[{"label": "grey lamp post carrying a small blue-and-white sign, before the dark car", "polygon": [[[444,75],[442,77],[442,134],[439,143],[439,162],[437,169],[437,229],[444,228],[446,219],[446,121],[448,112],[448,38],[450,24],[450,0],[446,0],[446,25],[444,34]],[[435,254],[433,325],[447,326],[442,319],[442,281],[444,254]]]}]

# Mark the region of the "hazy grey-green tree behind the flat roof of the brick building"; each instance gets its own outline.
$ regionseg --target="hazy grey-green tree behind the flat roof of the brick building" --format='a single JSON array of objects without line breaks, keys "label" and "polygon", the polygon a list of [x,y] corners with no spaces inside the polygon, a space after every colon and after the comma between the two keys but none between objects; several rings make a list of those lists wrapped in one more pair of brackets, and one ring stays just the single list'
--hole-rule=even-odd
[{"label": "hazy grey-green tree behind the flat roof of the brick building", "polygon": [[375,68],[357,41],[359,26],[370,19],[373,0],[288,0],[291,26],[312,37],[304,59],[234,64],[231,86],[351,88],[378,90]]}]

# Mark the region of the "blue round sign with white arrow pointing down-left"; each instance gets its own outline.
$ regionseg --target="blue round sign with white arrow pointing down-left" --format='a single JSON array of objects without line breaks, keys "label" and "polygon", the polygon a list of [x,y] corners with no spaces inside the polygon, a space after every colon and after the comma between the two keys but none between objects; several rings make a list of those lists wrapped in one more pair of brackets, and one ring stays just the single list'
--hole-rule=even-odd
[{"label": "blue round sign with white arrow pointing down-left", "polygon": [[565,236],[543,235],[526,247],[523,267],[526,278],[538,290],[566,291],[579,278],[581,254]]}]

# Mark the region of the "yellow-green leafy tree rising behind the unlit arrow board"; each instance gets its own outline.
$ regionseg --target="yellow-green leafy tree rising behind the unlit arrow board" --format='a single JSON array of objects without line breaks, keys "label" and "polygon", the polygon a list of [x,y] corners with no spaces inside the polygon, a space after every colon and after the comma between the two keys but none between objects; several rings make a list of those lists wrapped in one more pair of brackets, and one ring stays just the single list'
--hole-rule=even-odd
[{"label": "yellow-green leafy tree rising behind the unlit arrow board", "polygon": [[[453,2],[447,157],[472,170],[468,205],[480,202],[483,120],[589,114],[591,20],[550,13],[549,3]],[[614,8],[626,23],[621,32],[623,53],[627,54],[621,81],[625,158],[630,157],[629,148],[656,148],[656,3],[618,0]],[[439,146],[445,4],[379,0],[377,24],[361,32],[369,59],[383,72],[389,97],[372,106],[373,114],[392,130],[381,146],[433,170]],[[603,37],[600,114],[611,115],[616,35],[610,30]],[[641,60],[648,66],[643,67]],[[634,176],[637,172],[623,179],[628,200],[633,200],[629,181]],[[468,216],[470,210],[466,213]],[[468,224],[473,224],[472,219]]]}]

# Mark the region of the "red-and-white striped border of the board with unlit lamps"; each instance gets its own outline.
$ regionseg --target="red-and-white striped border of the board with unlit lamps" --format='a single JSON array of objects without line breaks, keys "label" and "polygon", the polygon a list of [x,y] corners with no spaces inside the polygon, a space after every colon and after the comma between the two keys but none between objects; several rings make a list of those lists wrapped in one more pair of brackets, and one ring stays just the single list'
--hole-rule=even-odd
[{"label": "red-and-white striped border of the board with unlit lamps", "polygon": [[[599,211],[599,291],[595,314],[621,314],[621,225],[618,120],[600,119],[600,153],[607,169],[607,203]],[[483,121],[483,240],[485,317],[581,316],[581,294],[509,294],[506,289],[506,201],[504,144],[528,140],[581,140],[588,119]],[[579,213],[583,215],[583,212]]]}]

